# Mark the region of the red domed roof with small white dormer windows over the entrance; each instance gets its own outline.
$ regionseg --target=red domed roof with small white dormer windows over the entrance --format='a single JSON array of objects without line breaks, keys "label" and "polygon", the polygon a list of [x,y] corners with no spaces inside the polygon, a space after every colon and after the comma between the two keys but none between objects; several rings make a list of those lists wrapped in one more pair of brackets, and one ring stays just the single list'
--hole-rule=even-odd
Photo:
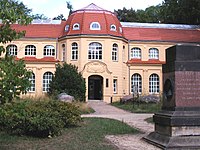
[{"label": "red domed roof with small white dormer windows over the entrance", "polygon": [[69,16],[63,36],[67,35],[112,35],[121,37],[123,31],[114,13],[92,3],[74,11]]}]

